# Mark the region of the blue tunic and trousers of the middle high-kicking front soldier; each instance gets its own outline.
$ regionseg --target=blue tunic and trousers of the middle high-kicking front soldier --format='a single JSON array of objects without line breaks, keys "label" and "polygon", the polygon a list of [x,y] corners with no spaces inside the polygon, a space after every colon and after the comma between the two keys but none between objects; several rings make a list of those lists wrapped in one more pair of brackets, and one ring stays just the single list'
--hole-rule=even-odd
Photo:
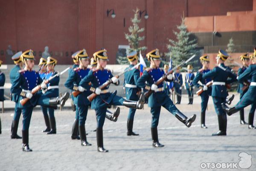
[{"label": "blue tunic and trousers of the middle high-kicking front soldier", "polygon": [[[93,69],[90,70],[88,75],[81,80],[79,85],[86,89],[90,89],[89,83],[91,82],[91,86],[93,88],[97,88],[103,83],[105,83],[107,80],[111,79],[112,77],[113,75],[111,74],[110,70]],[[118,84],[119,82],[116,83],[116,85]],[[108,87],[106,87],[104,91],[108,91]],[[107,92],[96,96],[96,98],[92,101],[91,108],[95,109],[96,111],[97,128],[102,128],[104,125],[107,107],[110,105],[123,105],[124,101],[125,99],[116,96],[116,93]]]}]

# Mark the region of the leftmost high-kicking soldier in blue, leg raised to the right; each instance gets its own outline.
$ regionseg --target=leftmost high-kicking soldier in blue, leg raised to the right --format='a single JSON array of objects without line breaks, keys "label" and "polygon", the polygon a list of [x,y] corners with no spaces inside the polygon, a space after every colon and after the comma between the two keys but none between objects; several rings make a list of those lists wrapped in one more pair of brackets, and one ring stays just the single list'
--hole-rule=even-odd
[{"label": "leftmost high-kicking soldier in blue, leg raised to the right", "polygon": [[29,101],[21,105],[18,103],[18,107],[22,109],[23,114],[23,128],[22,128],[22,143],[23,151],[32,151],[29,148],[29,124],[32,116],[33,108],[36,105],[41,105],[49,108],[57,108],[57,105],[64,105],[66,100],[69,97],[68,93],[65,93],[62,97],[54,97],[48,98],[42,92],[38,92],[35,94],[31,93],[31,90],[35,88],[37,85],[41,84],[41,88],[47,88],[47,85],[43,83],[38,72],[33,71],[34,67],[34,55],[33,51],[27,50],[23,52],[20,56],[21,60],[25,64],[25,68],[18,71],[15,77],[15,80],[12,82],[11,92],[17,94],[20,92],[20,88],[22,88],[22,92],[20,93],[19,101],[23,98],[29,98]]}]

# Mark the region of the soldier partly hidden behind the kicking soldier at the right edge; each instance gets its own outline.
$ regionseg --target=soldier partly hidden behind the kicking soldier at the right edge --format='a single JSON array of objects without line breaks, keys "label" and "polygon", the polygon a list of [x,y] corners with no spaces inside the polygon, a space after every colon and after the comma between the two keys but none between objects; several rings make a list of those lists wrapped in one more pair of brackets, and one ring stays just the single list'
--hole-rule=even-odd
[{"label": "soldier partly hidden behind the kicking soldier at the right edge", "polygon": [[[248,66],[250,64],[250,56],[248,55],[248,53],[242,54],[240,56],[240,59],[243,63],[243,66],[242,66],[242,68],[239,68],[238,73],[237,73],[238,76],[241,75],[248,68]],[[244,87],[244,84],[240,83],[237,88],[237,92],[240,93],[240,99],[243,97],[243,95],[247,92],[247,90],[249,88],[249,87],[247,87],[245,90],[243,90],[242,89],[243,87]],[[242,108],[239,111],[239,113],[240,113],[240,124],[241,125],[247,124],[244,120],[244,108]]]}]

